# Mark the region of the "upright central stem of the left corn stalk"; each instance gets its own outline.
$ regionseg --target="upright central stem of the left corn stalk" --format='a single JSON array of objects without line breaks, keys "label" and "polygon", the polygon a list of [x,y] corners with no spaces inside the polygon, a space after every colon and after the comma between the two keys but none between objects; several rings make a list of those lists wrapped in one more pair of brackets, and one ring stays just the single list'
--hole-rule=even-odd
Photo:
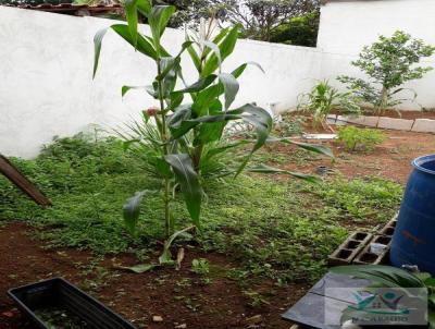
[{"label": "upright central stem of the left corn stalk", "polygon": [[[160,75],[162,73],[162,68],[160,60],[157,62],[158,65],[158,74]],[[167,129],[166,129],[166,113],[164,112],[164,95],[163,95],[163,85],[162,82],[158,82],[158,87],[159,87],[159,101],[160,101],[160,115],[161,115],[161,138],[163,142],[163,155],[167,156],[169,149],[167,149]],[[165,235],[166,237],[171,236],[172,231],[174,230],[174,223],[171,220],[171,208],[170,208],[170,193],[171,193],[171,182],[169,178],[164,178],[164,195],[163,195],[163,202],[164,202],[164,227],[165,227]]]}]

